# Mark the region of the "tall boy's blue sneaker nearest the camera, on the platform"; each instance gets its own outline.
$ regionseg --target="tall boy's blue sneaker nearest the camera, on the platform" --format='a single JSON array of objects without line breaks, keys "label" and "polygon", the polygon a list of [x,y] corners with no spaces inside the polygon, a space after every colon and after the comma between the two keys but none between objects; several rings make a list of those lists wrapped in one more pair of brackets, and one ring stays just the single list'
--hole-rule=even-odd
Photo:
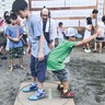
[{"label": "tall boy's blue sneaker nearest the camera, on the platform", "polygon": [[43,91],[42,93],[39,91],[37,91],[35,94],[33,94],[32,96],[28,97],[30,101],[37,101],[40,98],[46,97],[46,93],[45,91]]}]

